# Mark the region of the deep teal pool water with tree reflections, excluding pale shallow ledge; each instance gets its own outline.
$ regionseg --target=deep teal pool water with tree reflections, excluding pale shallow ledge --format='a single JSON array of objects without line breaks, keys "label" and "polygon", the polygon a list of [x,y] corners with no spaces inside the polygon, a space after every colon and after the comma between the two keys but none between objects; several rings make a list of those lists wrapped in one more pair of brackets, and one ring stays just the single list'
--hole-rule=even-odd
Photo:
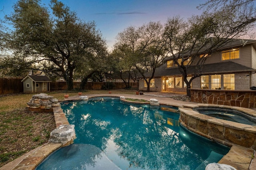
[{"label": "deep teal pool water with tree reflections, excluding pale shallow ledge", "polygon": [[69,123],[75,125],[74,143],[94,145],[107,156],[112,143],[128,164],[118,165],[113,160],[122,169],[196,169],[213,149],[228,152],[181,128],[179,114],[165,109],[104,101],[74,102],[62,108]]}]

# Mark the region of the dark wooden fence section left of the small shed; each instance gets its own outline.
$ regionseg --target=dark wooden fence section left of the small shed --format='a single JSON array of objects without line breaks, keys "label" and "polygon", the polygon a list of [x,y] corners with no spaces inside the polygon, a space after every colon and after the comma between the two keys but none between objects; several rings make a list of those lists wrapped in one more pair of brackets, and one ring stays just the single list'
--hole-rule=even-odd
[{"label": "dark wooden fence section left of the small shed", "polygon": [[22,78],[0,78],[0,95],[23,92]]}]

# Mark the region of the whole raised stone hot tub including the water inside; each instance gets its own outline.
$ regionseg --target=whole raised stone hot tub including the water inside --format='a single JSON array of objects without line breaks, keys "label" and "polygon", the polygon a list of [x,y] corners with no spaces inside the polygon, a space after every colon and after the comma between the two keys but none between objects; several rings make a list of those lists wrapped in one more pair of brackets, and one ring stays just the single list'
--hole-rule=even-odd
[{"label": "whole raised stone hot tub including the water inside", "polygon": [[180,124],[224,145],[256,149],[256,111],[214,104],[179,107]]}]

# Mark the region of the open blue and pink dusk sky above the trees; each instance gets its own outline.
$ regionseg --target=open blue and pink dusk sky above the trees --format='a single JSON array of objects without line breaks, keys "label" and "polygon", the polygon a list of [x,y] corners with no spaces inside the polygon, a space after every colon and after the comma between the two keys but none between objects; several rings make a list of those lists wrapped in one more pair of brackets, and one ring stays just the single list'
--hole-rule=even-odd
[{"label": "open blue and pink dusk sky above the trees", "polygon": [[[109,49],[116,35],[129,26],[139,27],[150,21],[165,23],[168,17],[180,15],[186,19],[200,14],[196,6],[206,0],[60,0],[75,11],[83,21],[95,21]],[[0,19],[9,15],[17,0],[0,0]],[[41,0],[42,4],[50,0]]]}]

